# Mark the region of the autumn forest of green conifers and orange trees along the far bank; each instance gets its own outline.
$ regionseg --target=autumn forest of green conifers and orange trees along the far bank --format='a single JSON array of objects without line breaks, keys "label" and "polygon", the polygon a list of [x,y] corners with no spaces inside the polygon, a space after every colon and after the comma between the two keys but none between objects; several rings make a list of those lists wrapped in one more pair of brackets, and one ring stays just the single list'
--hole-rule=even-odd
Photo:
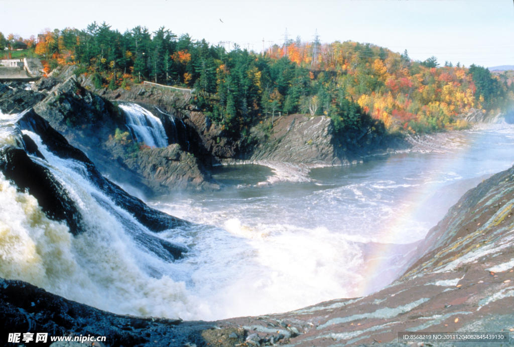
[{"label": "autumn forest of green conifers and orange trees along the far bank", "polygon": [[[413,61],[370,43],[286,40],[256,53],[234,45],[193,40],[164,27],[136,26],[120,33],[106,23],[84,30],[46,29],[23,40],[0,33],[0,48],[24,41],[49,73],[76,64],[97,88],[130,89],[152,81],[193,89],[195,103],[227,136],[245,136],[256,123],[279,115],[327,116],[338,132],[362,129],[433,132],[464,129],[458,115],[470,108],[506,112],[514,84],[506,73],[437,58]],[[37,41],[37,43],[36,43]]]}]

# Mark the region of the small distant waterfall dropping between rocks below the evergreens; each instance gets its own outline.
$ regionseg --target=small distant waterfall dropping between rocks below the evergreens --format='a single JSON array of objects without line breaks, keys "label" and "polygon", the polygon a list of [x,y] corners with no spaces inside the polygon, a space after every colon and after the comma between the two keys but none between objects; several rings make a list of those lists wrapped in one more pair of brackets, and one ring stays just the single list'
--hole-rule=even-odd
[{"label": "small distant waterfall dropping between rocks below the evergreens", "polygon": [[138,104],[120,104],[119,107],[125,112],[126,124],[137,142],[150,147],[167,147],[168,137],[159,118]]}]

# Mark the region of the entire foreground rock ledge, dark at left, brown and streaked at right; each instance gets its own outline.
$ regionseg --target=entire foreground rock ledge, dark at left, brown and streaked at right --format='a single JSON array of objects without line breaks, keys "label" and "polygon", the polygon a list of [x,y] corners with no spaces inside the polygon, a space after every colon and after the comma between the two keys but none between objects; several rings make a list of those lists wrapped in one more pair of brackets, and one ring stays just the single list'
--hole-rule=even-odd
[{"label": "entire foreground rock ledge, dark at left, brown and streaked at right", "polygon": [[[514,167],[468,191],[430,230],[405,274],[362,298],[284,314],[181,322],[118,316],[21,281],[2,280],[0,327],[3,332],[106,336],[105,345],[126,347],[421,345],[398,341],[403,331],[509,332],[509,342],[488,345],[514,345],[513,208]],[[1,338],[5,343],[7,334]]]}]

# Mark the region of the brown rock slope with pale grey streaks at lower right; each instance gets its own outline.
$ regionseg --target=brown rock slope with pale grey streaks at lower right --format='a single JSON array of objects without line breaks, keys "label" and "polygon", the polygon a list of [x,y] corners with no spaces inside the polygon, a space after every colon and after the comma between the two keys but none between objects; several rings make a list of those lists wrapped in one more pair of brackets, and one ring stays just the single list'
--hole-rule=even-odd
[{"label": "brown rock slope with pale grey streaks at lower right", "polygon": [[224,323],[260,342],[282,334],[291,346],[417,345],[398,341],[404,331],[509,332],[503,345],[514,345],[513,181],[511,168],[466,193],[430,230],[405,274],[377,293]]}]

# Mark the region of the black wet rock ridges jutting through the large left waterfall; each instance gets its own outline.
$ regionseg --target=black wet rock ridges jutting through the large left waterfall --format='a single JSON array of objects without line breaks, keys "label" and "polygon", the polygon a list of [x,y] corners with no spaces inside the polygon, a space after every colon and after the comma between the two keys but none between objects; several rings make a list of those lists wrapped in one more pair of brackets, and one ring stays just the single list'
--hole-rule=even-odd
[{"label": "black wet rock ridges jutting through the large left waterfall", "polygon": [[[72,147],[33,109],[23,112],[18,117],[11,135],[16,145],[5,145],[0,150],[0,172],[13,182],[17,190],[27,191],[34,196],[47,217],[64,222],[72,234],[78,235],[85,232],[82,224],[84,215],[77,208],[76,201],[71,197],[65,185],[52,174],[48,167],[29,156],[31,154],[45,160],[34,141],[29,136],[22,135],[24,130],[38,135],[43,145],[53,155],[80,163],[83,168],[82,176],[91,185],[111,199],[116,206],[131,214],[148,230],[161,232],[189,225],[186,221],[146,206],[140,199],[127,194],[106,179],[83,152]],[[100,201],[98,202],[100,203]],[[135,235],[137,240],[140,240],[142,244],[157,247],[169,260],[180,258],[182,252],[187,251],[183,246],[173,245],[139,228],[131,230],[139,231]]]}]

